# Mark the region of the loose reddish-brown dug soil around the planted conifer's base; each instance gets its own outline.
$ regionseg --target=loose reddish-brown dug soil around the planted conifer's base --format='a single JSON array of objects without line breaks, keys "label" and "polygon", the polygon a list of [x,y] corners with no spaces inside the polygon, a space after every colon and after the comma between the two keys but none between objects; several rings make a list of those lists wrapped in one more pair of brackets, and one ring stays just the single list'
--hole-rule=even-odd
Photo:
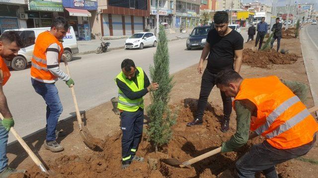
[{"label": "loose reddish-brown dug soil around the planted conifer's base", "polygon": [[[219,120],[222,119],[222,111],[216,106],[208,107],[204,113],[204,123],[197,127],[186,127],[186,123],[193,120],[196,111],[197,100],[187,98],[176,104],[179,110],[177,124],[173,126],[174,134],[169,144],[156,154],[154,149],[144,136],[138,155],[145,157],[145,162],[133,162],[125,169],[121,169],[121,133],[108,137],[103,144],[102,152],[95,152],[83,157],[77,155],[64,155],[55,160],[48,161],[48,166],[55,171],[54,178],[216,178],[218,175],[234,175],[236,160],[248,150],[251,143],[259,143],[262,138],[255,138],[237,152],[219,153],[192,165],[191,169],[175,168],[162,163],[162,158],[176,158],[181,162],[206,153],[222,142],[228,140],[235,133],[231,128],[228,133],[220,131]],[[148,159],[152,162],[158,160],[157,166],[149,166]],[[156,161],[155,161],[156,162]],[[157,167],[157,169],[156,169]],[[291,174],[287,166],[278,169],[282,178]],[[225,172],[225,173],[223,173]],[[15,175],[11,178],[44,178],[36,166],[28,170],[25,175]],[[51,176],[50,176],[51,177]],[[220,176],[221,177],[221,176]]]}]

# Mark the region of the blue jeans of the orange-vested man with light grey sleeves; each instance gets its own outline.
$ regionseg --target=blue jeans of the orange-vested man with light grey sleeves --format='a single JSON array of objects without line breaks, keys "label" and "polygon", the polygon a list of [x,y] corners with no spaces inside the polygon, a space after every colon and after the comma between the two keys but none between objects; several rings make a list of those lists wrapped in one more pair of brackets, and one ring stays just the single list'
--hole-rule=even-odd
[{"label": "blue jeans of the orange-vested man with light grey sleeves", "polygon": [[59,97],[59,91],[55,84],[38,82],[31,78],[32,86],[40,94],[46,103],[46,141],[53,141],[56,138],[55,130],[63,106]]}]

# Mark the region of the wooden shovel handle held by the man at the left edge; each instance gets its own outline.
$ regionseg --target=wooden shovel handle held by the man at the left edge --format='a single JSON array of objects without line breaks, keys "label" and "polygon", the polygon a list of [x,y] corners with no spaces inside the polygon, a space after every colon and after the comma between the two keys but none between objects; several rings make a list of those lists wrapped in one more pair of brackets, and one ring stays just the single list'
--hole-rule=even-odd
[{"label": "wooden shovel handle held by the man at the left edge", "polygon": [[[3,116],[1,113],[0,113],[0,118],[1,118],[1,120],[3,120]],[[25,141],[22,139],[22,137],[15,131],[15,129],[13,127],[11,127],[10,131],[15,136],[15,138],[18,140],[18,142],[21,144],[23,149],[28,153],[28,155],[31,157],[31,159],[34,161],[34,163],[40,168],[40,170],[42,172],[46,173],[47,175],[50,175],[48,170],[43,165],[43,163],[39,160],[38,157],[36,157],[36,155],[32,152],[32,150],[25,143]]]}]

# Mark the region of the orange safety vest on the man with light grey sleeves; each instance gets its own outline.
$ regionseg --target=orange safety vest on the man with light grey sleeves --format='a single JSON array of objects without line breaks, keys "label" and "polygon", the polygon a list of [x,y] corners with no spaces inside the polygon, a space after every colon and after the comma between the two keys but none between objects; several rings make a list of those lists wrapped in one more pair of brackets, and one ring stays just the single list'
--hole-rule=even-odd
[{"label": "orange safety vest on the man with light grey sleeves", "polygon": [[49,31],[42,32],[36,39],[31,66],[31,77],[37,81],[44,83],[54,83],[58,80],[47,68],[46,64],[46,50],[52,44],[58,44],[61,48],[59,53],[59,63],[61,61],[64,48],[61,42],[55,38]]}]

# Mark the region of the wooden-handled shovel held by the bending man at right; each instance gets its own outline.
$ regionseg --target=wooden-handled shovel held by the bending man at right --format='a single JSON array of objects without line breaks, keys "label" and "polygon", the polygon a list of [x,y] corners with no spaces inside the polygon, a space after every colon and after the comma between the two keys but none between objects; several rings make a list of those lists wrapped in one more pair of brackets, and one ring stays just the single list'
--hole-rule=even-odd
[{"label": "wooden-handled shovel held by the bending man at right", "polygon": [[[309,111],[310,113],[315,112],[315,111],[318,111],[318,106],[314,106],[314,107],[308,109],[308,111]],[[212,155],[215,155],[215,154],[217,154],[217,153],[220,153],[220,152],[221,152],[221,148],[222,148],[222,147],[219,147],[219,148],[217,148],[217,149],[214,149],[214,150],[212,150],[212,151],[209,151],[209,152],[207,152],[207,153],[204,153],[204,154],[202,154],[202,155],[200,155],[200,156],[197,156],[197,157],[195,157],[195,158],[192,158],[192,159],[190,159],[190,160],[188,160],[188,161],[186,161],[186,162],[183,162],[183,163],[181,163],[181,162],[180,162],[179,160],[177,160],[176,158],[162,159],[162,161],[163,161],[164,163],[166,163],[167,165],[174,166],[174,167],[177,167],[177,168],[185,168],[185,167],[189,168],[189,166],[192,165],[193,163],[196,163],[196,162],[201,161],[201,160],[203,160],[203,159],[205,159],[205,158],[208,158],[208,157],[210,157],[210,156],[212,156]]]}]

